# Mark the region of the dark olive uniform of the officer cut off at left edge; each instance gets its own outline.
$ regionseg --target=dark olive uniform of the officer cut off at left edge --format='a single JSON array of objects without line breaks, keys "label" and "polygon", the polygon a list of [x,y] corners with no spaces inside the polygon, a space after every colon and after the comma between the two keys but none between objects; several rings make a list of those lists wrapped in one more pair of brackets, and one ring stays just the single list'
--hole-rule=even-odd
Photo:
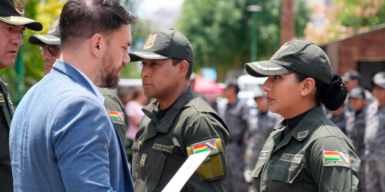
[{"label": "dark olive uniform of the officer cut off at left edge", "polygon": [[9,127],[15,107],[8,95],[8,85],[0,79],[0,191],[13,191],[11,159],[9,154]]}]

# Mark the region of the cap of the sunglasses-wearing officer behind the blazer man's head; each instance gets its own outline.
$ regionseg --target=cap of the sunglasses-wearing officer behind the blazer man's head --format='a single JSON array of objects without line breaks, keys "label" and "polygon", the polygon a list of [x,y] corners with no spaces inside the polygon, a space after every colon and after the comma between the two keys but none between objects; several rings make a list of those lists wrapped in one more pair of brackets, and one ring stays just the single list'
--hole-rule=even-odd
[{"label": "cap of the sunglasses-wearing officer behind the blazer man's head", "polygon": [[29,42],[36,45],[60,45],[59,20],[60,17],[55,17],[54,20],[52,20],[51,26],[48,29],[47,34],[31,35],[29,37]]}]

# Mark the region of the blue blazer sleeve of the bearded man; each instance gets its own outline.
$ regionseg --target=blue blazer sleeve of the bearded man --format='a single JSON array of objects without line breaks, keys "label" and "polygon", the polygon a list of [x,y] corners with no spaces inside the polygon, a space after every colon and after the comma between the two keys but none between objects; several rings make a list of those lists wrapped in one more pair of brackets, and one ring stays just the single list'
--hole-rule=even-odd
[{"label": "blue blazer sleeve of the bearded man", "polygon": [[60,111],[51,142],[67,192],[112,191],[109,147],[112,122],[102,106],[76,98]]}]

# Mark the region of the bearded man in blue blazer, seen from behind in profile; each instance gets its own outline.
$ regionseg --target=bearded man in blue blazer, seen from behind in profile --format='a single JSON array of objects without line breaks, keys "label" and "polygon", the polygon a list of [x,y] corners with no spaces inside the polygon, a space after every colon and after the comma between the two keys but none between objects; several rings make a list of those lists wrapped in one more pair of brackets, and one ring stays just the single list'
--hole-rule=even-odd
[{"label": "bearded man in blue blazer, seen from behind in profile", "polygon": [[134,191],[124,146],[95,85],[117,86],[137,20],[115,0],[64,5],[60,60],[25,94],[11,123],[15,191]]}]

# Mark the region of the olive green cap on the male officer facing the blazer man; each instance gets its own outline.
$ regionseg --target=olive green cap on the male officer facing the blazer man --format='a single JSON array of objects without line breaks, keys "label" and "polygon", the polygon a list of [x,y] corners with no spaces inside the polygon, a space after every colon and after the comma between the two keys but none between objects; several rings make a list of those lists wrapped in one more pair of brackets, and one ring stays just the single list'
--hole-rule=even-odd
[{"label": "olive green cap on the male officer facing the blazer man", "polygon": [[150,33],[142,51],[129,53],[129,56],[131,61],[176,58],[194,63],[194,48],[181,32],[170,29]]}]

